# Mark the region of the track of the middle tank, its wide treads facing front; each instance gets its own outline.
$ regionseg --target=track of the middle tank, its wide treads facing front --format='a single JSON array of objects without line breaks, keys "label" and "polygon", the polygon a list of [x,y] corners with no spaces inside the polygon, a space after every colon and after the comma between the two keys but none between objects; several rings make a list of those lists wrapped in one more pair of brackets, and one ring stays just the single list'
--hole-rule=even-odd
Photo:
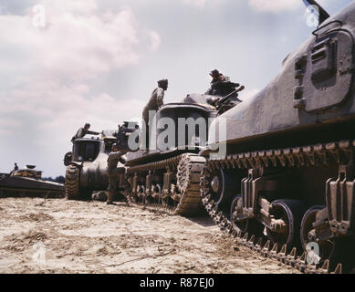
[{"label": "track of the middle tank, its wide treads facing front", "polygon": [[[139,172],[177,170],[176,187],[173,188],[171,193],[162,190],[162,195],[165,193],[165,196],[170,196],[173,199],[173,205],[163,203],[162,200],[156,203],[149,203],[143,200],[142,204],[161,209],[170,214],[190,216],[198,213],[199,210],[203,210],[200,197],[200,182],[204,164],[204,157],[193,153],[184,153],[161,162],[151,162],[131,167],[128,169],[127,175],[130,176]],[[131,190],[126,192],[125,195],[130,203],[135,201]]]}]

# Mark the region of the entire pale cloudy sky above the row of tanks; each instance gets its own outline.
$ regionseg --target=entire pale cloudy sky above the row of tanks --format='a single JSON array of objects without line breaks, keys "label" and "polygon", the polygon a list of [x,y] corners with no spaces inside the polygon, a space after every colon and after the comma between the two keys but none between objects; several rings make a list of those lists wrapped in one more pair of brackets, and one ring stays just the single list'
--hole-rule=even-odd
[{"label": "entire pale cloudy sky above the row of tanks", "polygon": [[[330,15],[350,2],[319,1]],[[306,12],[301,0],[2,0],[0,172],[18,162],[63,174],[78,127],[140,118],[161,78],[176,102],[204,92],[218,68],[247,99],[310,36]]]}]

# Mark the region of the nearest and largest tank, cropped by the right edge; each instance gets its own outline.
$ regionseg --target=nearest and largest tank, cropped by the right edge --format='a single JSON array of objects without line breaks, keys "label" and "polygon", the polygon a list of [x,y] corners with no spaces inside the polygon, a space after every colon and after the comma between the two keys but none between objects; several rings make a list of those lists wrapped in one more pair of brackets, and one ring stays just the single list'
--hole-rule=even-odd
[{"label": "nearest and largest tank, cropped by the right edge", "polygon": [[[318,28],[277,77],[214,120],[213,139],[201,153],[202,197],[229,230],[266,235],[276,250],[311,249],[321,263],[349,269],[355,266],[355,3],[331,17],[318,8]],[[216,132],[221,124],[224,131]],[[223,145],[225,155],[214,155],[212,147]]]}]

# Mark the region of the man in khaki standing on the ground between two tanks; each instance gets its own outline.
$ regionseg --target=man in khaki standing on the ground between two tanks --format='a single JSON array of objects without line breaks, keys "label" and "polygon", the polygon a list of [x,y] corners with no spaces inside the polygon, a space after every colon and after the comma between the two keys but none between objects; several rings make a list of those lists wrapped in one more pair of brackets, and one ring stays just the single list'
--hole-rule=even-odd
[{"label": "man in khaki standing on the ground between two tanks", "polygon": [[125,151],[118,151],[117,144],[113,144],[112,152],[108,158],[108,172],[109,172],[109,188],[107,204],[113,204],[113,196],[117,191],[120,183],[120,178],[124,174],[123,168],[118,168],[119,162],[126,163]]}]

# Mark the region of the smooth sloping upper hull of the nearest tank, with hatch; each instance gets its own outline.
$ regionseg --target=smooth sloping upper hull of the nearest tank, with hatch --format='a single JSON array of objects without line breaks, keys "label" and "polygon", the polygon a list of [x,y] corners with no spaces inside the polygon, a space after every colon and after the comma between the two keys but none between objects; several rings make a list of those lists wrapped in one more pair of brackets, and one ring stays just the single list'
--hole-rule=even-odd
[{"label": "smooth sloping upper hull of the nearest tank, with hatch", "polygon": [[[217,124],[225,120],[226,136],[219,139],[217,133],[209,142],[233,144],[270,133],[326,129],[329,125],[349,136],[355,120],[354,14],[355,4],[350,4],[323,23],[284,60],[265,89],[214,120]],[[348,129],[343,127],[346,120]]]}]

